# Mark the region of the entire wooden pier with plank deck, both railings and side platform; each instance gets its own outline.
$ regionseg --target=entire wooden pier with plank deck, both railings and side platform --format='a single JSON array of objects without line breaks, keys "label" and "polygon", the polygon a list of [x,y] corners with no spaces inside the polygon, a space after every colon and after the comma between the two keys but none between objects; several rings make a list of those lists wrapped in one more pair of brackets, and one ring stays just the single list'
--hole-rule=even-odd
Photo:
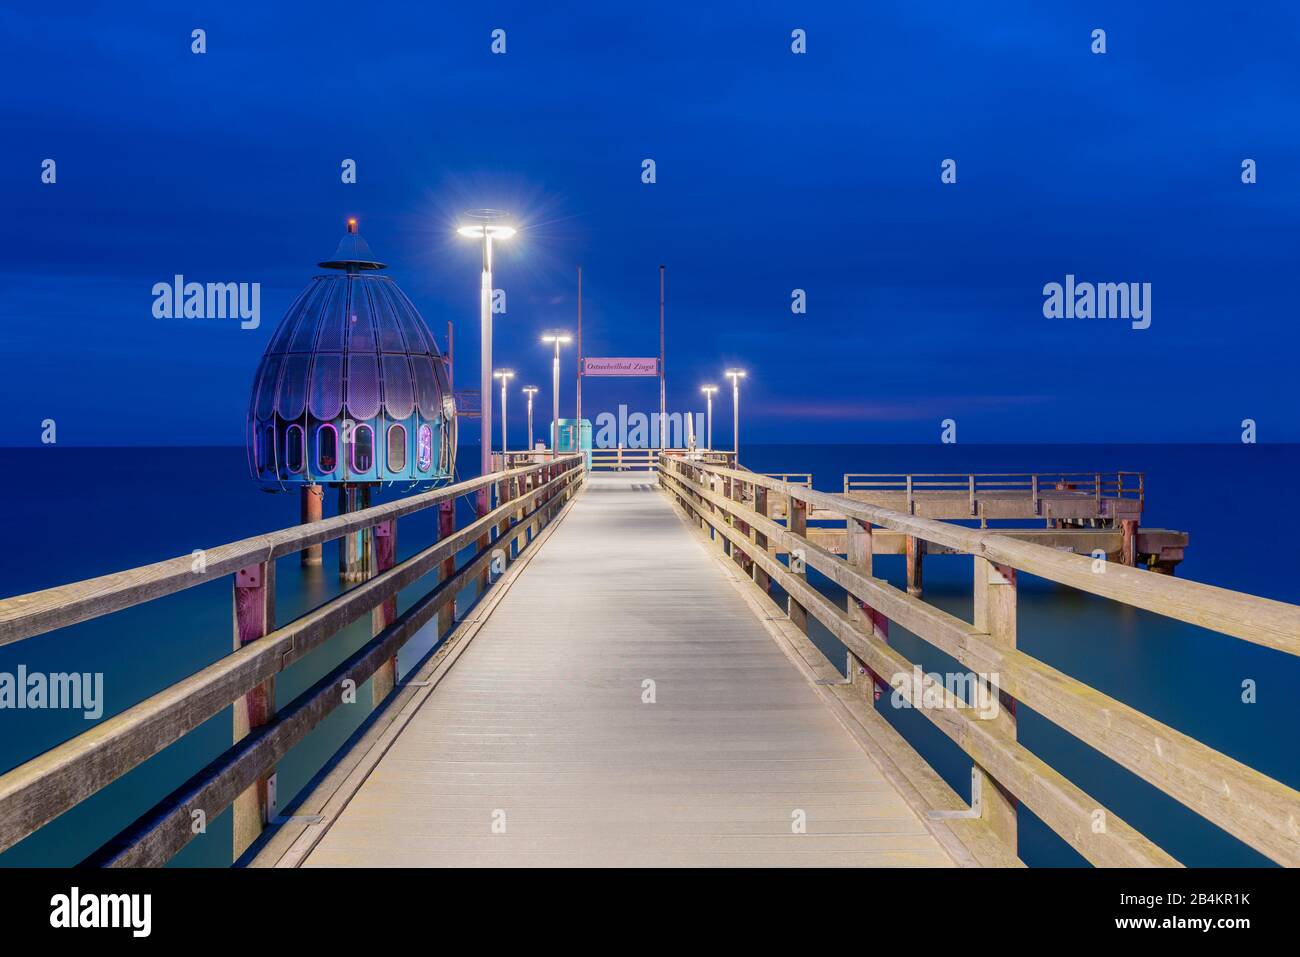
[{"label": "entire wooden pier with plank deck, both railings and side platform", "polygon": [[[207,839],[196,817],[233,809],[230,859],[259,867],[1017,866],[1023,806],[1093,865],[1178,865],[1018,741],[1023,702],[1300,865],[1300,792],[1017,648],[1023,573],[1300,654],[1300,607],[1136,567],[1173,559],[1153,550],[1161,534],[1173,537],[1160,547],[1186,545],[1160,529],[1141,538],[1140,482],[904,476],[898,489],[858,476],[829,493],[725,452],[607,459],[589,472],[582,455],[507,456],[481,478],[208,549],[199,571],[183,555],[0,601],[0,644],[12,644],[228,579],[234,635],[229,655],[0,775],[0,849],[233,706],[230,749],[86,863],[161,866]],[[478,503],[472,521],[442,523],[404,560],[382,544],[404,516],[450,515],[462,497]],[[1037,527],[988,527],[1006,519]],[[278,623],[277,560],[358,536],[372,551],[364,580]],[[907,588],[874,575],[876,554],[927,551],[971,558],[971,622],[919,596],[919,560]],[[458,618],[474,583],[486,586]],[[278,672],[364,616],[368,644],[277,701]],[[846,649],[842,670],[810,638],[815,624]],[[923,675],[890,624],[989,677],[1000,706],[975,709]],[[395,675],[398,650],[425,629],[438,644]],[[278,807],[277,763],[348,687],[389,670],[361,729]],[[893,692],[924,702],[970,757],[968,801],[876,710]]]}]

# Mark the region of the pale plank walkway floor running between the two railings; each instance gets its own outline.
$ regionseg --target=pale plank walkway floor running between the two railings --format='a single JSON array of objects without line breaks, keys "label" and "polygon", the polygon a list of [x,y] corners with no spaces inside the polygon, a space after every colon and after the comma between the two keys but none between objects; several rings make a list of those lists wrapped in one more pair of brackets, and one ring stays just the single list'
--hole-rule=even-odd
[{"label": "pale plank walkway floor running between the two railings", "polygon": [[276,862],[950,865],[715,554],[653,477],[592,476],[315,848]]}]

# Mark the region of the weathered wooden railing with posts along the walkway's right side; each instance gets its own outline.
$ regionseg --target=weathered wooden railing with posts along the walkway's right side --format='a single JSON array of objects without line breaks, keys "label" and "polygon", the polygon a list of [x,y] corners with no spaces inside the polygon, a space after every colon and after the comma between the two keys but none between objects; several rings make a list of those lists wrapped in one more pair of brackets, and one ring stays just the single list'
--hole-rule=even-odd
[{"label": "weathered wooden railing with posts along the walkway's right side", "polygon": [[[753,472],[666,458],[659,481],[688,516],[750,572],[764,592],[789,596],[786,614],[806,633],[820,622],[849,650],[854,667],[878,687],[910,701],[972,759],[972,804],[1015,848],[1017,802],[1023,802],[1084,858],[1098,866],[1171,866],[1178,862],[1109,813],[1017,740],[1015,702],[1101,752],[1199,815],[1278,863],[1300,865],[1300,792],[1089,688],[1017,649],[1017,575],[1026,572],[1222,635],[1300,654],[1300,607],[1212,585],[1179,581],[1119,564],[1070,555],[993,532],[919,519],[844,495]],[[770,503],[785,501],[784,524]],[[811,508],[842,519],[848,559],[810,541]],[[883,527],[974,558],[974,622],[927,605],[872,575],[871,533]],[[777,553],[790,557],[789,563]],[[848,593],[848,607],[807,580],[815,568]],[[983,676],[1002,707],[985,719],[889,645],[889,622]],[[919,675],[919,680],[918,680]],[[942,703],[937,703],[942,702]]]}]

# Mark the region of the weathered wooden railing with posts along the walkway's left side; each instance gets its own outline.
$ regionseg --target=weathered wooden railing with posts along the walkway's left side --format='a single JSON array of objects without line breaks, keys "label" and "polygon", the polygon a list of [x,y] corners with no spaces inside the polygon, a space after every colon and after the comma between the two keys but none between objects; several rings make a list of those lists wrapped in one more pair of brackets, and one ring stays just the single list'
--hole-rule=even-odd
[{"label": "weathered wooden railing with posts along the walkway's left side", "polygon": [[[234,705],[235,744],[87,863],[162,865],[195,836],[196,814],[213,820],[230,806],[237,858],[274,811],[268,781],[289,749],[343,701],[341,689],[358,689],[376,676],[377,697],[391,690],[398,650],[436,615],[439,636],[450,629],[456,594],[476,580],[486,583],[491,566],[502,571],[533,541],[582,482],[581,462],[567,455],[221,545],[207,550],[199,564],[185,555],[0,601],[0,645],[6,645],[229,575],[237,635],[231,654],[0,775],[0,850]],[[448,506],[484,490],[495,490],[495,506],[455,529]],[[395,562],[396,520],[426,508],[442,508],[439,519],[450,521],[439,521],[436,544]],[[276,559],[365,531],[374,532],[374,576],[277,628]],[[476,553],[456,567],[458,553],[469,545]],[[429,573],[438,573],[438,584],[398,615],[398,592]],[[277,710],[276,675],[368,612],[374,637]],[[381,683],[385,671],[389,680]]]}]

